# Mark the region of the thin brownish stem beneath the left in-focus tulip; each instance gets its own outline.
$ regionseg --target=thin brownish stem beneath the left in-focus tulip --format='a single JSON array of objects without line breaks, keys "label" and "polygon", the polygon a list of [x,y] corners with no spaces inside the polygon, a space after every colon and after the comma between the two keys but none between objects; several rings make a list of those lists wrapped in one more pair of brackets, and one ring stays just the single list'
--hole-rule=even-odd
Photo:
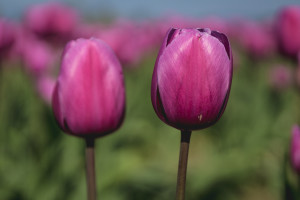
[{"label": "thin brownish stem beneath the left in-focus tulip", "polygon": [[86,138],[86,180],[88,200],[96,200],[96,180],[95,180],[95,140]]}]

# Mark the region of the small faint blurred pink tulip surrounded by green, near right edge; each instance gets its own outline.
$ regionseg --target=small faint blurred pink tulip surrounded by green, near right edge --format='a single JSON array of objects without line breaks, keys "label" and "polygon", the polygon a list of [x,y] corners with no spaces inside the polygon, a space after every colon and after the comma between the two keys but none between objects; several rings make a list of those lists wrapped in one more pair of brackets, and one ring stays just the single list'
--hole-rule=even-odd
[{"label": "small faint blurred pink tulip surrounded by green, near right edge", "polygon": [[276,90],[283,90],[291,86],[292,73],[286,66],[274,66],[270,71],[270,84]]}]

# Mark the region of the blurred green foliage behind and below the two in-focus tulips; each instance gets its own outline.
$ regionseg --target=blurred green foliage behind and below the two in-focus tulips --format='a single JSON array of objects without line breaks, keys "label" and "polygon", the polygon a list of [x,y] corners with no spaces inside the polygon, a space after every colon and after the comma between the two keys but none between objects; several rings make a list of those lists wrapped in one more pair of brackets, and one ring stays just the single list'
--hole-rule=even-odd
[{"label": "blurred green foliage behind and below the two in-focus tulips", "polygon": [[[154,62],[150,57],[125,70],[123,126],[96,141],[99,199],[175,199],[180,134],[152,108]],[[299,91],[270,88],[271,61],[240,62],[223,117],[192,134],[187,199],[283,197],[284,154],[299,118]],[[86,199],[84,141],[59,130],[21,68],[2,68],[0,92],[0,199]]]}]

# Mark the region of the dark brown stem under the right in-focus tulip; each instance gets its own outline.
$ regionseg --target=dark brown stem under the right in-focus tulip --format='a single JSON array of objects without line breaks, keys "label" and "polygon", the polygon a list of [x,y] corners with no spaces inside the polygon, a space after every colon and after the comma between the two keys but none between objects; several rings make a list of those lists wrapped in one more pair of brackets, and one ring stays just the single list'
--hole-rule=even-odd
[{"label": "dark brown stem under the right in-focus tulip", "polygon": [[177,175],[176,200],[184,200],[186,169],[192,131],[181,131],[180,154]]}]

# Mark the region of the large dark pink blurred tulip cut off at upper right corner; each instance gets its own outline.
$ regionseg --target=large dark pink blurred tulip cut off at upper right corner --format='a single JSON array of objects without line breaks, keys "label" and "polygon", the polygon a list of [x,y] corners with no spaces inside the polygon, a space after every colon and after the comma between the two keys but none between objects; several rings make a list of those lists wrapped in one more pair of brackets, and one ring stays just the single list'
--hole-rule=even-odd
[{"label": "large dark pink blurred tulip cut off at upper right corner", "polygon": [[300,6],[288,6],[278,15],[276,32],[284,53],[296,56],[300,50]]}]

